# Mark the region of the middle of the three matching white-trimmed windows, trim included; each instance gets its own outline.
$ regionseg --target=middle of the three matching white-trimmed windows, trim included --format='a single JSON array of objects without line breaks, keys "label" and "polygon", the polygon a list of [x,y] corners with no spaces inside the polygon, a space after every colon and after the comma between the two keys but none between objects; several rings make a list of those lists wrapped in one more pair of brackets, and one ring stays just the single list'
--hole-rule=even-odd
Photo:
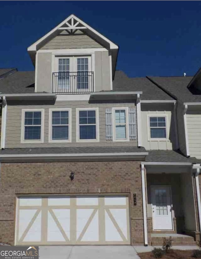
[{"label": "middle of the three matching white-trimmed windows, trim included", "polygon": [[71,142],[71,109],[49,109],[49,142]]}]

